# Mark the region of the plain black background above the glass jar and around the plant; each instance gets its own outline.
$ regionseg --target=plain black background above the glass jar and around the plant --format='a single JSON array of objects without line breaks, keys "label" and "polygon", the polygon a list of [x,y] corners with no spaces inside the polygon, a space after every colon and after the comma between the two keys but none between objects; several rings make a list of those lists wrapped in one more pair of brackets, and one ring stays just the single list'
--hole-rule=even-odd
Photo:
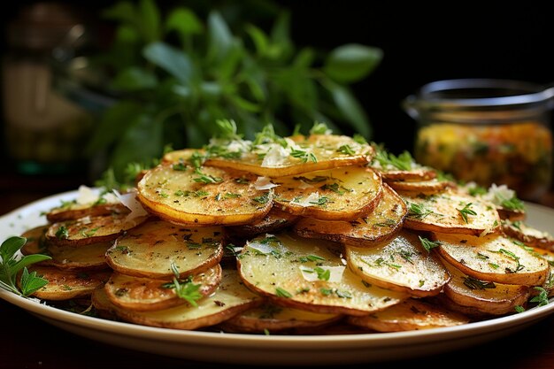
[{"label": "plain black background above the glass jar and around the plant", "polygon": [[[4,7],[2,24],[32,3],[26,0]],[[99,11],[112,3],[81,2],[77,8],[90,21],[101,22]],[[162,7],[173,3],[158,2]],[[216,6],[221,2],[201,3]],[[381,65],[353,88],[372,121],[373,141],[384,142],[395,152],[412,150],[415,130],[401,102],[427,82],[503,78],[547,85],[554,81],[554,16],[546,4],[464,2],[447,7],[444,3],[350,0],[281,0],[276,4],[291,11],[292,36],[299,47],[331,50],[359,42],[383,50]],[[102,37],[102,31],[98,35]],[[4,54],[4,38],[0,47]]]}]

